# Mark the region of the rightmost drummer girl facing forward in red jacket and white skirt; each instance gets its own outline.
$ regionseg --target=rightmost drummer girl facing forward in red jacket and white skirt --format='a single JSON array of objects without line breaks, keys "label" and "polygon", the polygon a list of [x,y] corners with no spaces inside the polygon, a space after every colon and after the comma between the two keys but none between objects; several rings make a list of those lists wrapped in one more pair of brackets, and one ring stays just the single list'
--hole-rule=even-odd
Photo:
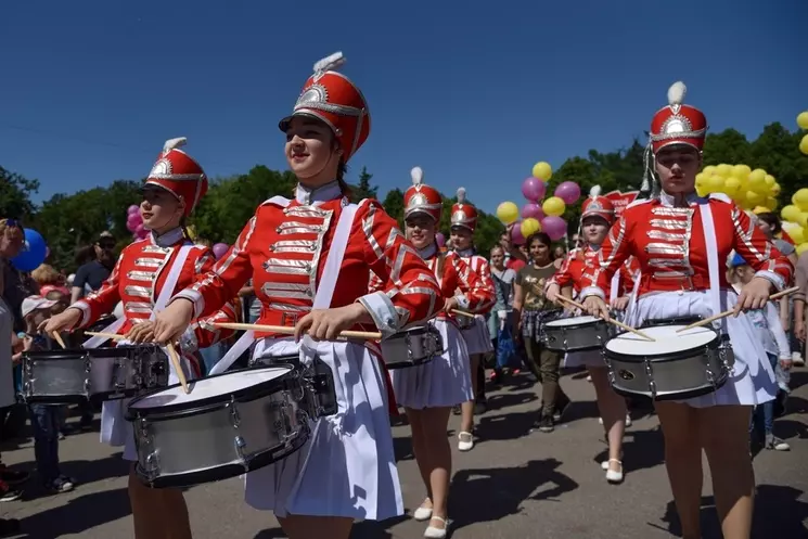
[{"label": "rightmost drummer girl facing forward in red jacket and white skirt", "polygon": [[[592,315],[606,317],[608,282],[633,255],[641,277],[639,299],[628,319],[631,325],[735,309],[736,317],[720,321],[735,356],[727,383],[702,397],[655,405],[683,538],[701,537],[704,448],[723,537],[747,539],[755,490],[749,413],[754,405],[774,398],[777,385],[766,351],[741,311],[764,307],[769,294],[788,282],[792,265],[729,198],[696,195],[707,120],[701,111],[683,104],[684,91],[683,84],[675,84],[668,90],[669,105],[651,123],[649,145],[662,191],[629,205],[612,227],[597,261],[582,274],[581,297]],[[740,295],[723,271],[733,248],[756,271]]]}]

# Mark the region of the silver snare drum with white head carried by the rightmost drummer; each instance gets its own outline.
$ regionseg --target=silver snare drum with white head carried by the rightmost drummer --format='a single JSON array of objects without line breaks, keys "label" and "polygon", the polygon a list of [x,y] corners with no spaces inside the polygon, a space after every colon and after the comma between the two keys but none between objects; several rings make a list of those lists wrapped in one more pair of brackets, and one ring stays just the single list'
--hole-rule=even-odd
[{"label": "silver snare drum with white head carried by the rightmost drummer", "polygon": [[608,377],[624,396],[643,395],[655,400],[680,400],[716,392],[730,374],[734,356],[729,339],[715,330],[685,325],[656,325],[642,332],[621,333],[604,348]]}]

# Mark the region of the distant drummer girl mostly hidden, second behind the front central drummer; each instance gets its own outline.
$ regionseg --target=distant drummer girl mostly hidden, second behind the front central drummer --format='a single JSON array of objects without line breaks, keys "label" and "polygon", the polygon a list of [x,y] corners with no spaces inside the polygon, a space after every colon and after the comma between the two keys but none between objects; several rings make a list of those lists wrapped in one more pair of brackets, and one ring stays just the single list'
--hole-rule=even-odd
[{"label": "distant drummer girl mostly hidden, second behind the front central drummer", "polygon": [[[479,277],[480,286],[490,288],[492,297],[489,305],[477,306],[476,312],[479,315],[474,317],[474,324],[462,331],[471,362],[472,388],[475,392],[478,387],[480,370],[483,371],[483,378],[485,378],[485,369],[480,369],[484,356],[493,350],[491,335],[488,333],[488,323],[482,313],[490,310],[496,303],[493,281],[491,280],[491,270],[488,267],[488,260],[479,256],[474,248],[474,229],[476,226],[477,209],[465,202],[465,188],[460,188],[458,189],[458,202],[451,207],[452,248],[469,266],[471,271]],[[474,429],[474,400],[461,405],[462,418],[460,421],[460,433],[458,433],[458,449],[461,451],[471,451],[474,447],[474,438],[472,436]]]}]

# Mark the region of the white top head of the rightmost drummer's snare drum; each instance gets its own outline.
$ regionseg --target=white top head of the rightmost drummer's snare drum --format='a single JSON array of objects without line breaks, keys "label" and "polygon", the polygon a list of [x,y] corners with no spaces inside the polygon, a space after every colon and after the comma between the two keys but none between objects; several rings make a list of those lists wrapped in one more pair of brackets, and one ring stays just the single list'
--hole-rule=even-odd
[{"label": "white top head of the rightmost drummer's snare drum", "polygon": [[718,341],[718,334],[707,328],[693,328],[677,333],[685,325],[656,325],[642,332],[656,341],[647,341],[633,333],[620,333],[606,343],[606,351],[621,356],[669,356],[705,347]]}]

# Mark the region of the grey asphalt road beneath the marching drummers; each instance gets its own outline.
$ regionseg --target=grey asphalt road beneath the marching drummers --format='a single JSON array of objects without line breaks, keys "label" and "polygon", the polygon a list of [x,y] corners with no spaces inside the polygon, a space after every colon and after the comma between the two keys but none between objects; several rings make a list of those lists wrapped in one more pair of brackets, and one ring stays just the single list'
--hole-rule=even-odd
[{"label": "grey asphalt road beneath the marching drummers", "polygon": [[[797,370],[793,381],[799,387],[791,397],[787,416],[777,424],[792,451],[764,451],[755,459],[756,538],[808,538],[808,369]],[[555,433],[542,434],[530,428],[535,388],[525,375],[514,382],[491,393],[490,411],[478,421],[483,440],[470,453],[456,451],[450,501],[454,539],[679,537],[653,415],[637,413],[625,447],[626,482],[610,486],[598,465],[605,445],[591,385],[580,375],[565,376],[564,387],[576,399],[568,422]],[[450,428],[457,428],[458,421],[453,416]],[[450,435],[454,440],[454,432]],[[411,511],[424,492],[408,428],[397,426],[394,436],[405,505]],[[48,497],[31,487],[26,500],[0,506],[2,516],[22,521],[21,538],[131,537],[126,466],[119,453],[97,440],[92,433],[61,442],[64,472],[81,483],[74,492]],[[3,447],[2,454],[13,467],[34,465],[30,441]],[[238,479],[190,489],[187,498],[195,539],[283,538],[271,514],[252,510],[242,496]],[[706,480],[704,539],[720,537],[711,504]],[[423,529],[423,524],[400,517],[359,524],[354,538],[420,538]]]}]

